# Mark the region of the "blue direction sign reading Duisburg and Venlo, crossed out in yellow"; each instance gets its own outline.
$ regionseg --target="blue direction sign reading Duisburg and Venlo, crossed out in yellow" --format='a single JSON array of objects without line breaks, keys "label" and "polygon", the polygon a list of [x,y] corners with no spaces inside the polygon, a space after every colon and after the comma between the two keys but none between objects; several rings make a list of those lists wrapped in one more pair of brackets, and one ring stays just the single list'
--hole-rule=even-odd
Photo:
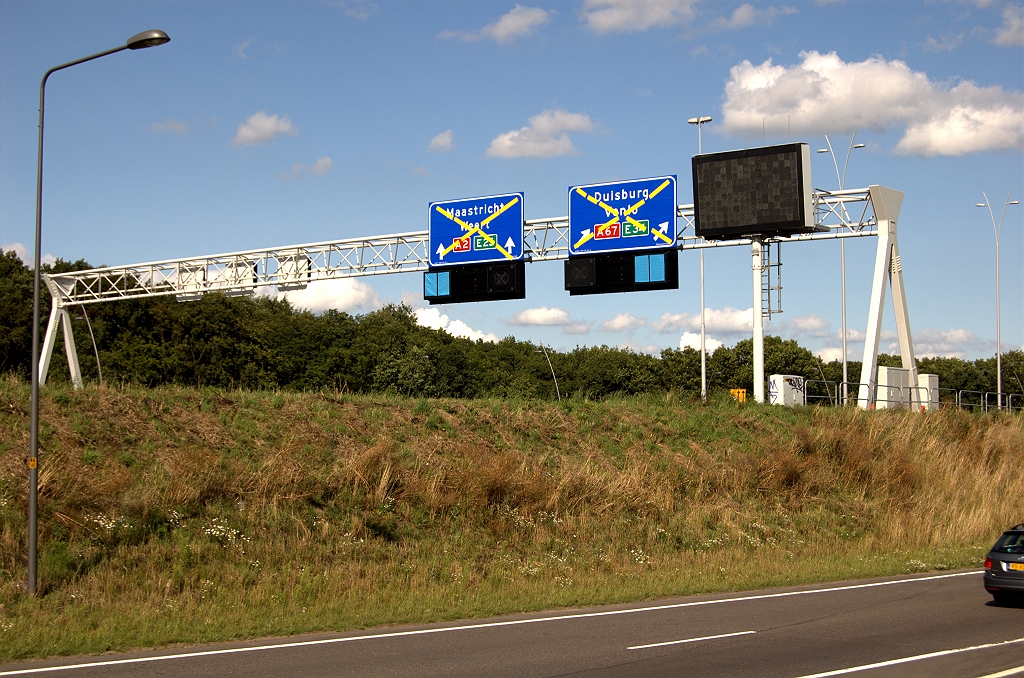
[{"label": "blue direction sign reading Duisburg and Venlo, crossed out in yellow", "polygon": [[675,244],[675,176],[569,186],[569,255]]}]

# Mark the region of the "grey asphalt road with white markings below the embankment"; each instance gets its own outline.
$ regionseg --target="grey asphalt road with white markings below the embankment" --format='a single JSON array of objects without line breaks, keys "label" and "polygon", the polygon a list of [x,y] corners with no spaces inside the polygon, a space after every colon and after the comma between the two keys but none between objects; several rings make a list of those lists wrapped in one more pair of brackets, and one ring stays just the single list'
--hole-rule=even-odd
[{"label": "grey asphalt road with white markings below the embankment", "polygon": [[980,571],[0,665],[0,676],[1024,678]]}]

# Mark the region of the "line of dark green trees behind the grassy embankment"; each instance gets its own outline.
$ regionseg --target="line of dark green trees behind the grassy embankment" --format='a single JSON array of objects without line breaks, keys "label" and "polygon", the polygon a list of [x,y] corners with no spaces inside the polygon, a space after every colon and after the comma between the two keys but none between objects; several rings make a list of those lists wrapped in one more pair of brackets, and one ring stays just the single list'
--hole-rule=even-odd
[{"label": "line of dark green trees behind the grassy embankment", "polygon": [[[57,260],[45,272],[82,270],[83,261]],[[43,290],[40,334],[50,297]],[[89,323],[85,322],[85,314]],[[329,310],[316,315],[269,297],[207,294],[181,303],[174,297],[130,299],[73,311],[83,377],[109,384],[182,384],[223,388],[330,389],[397,392],[428,397],[555,397],[547,359],[538,344],[513,337],[497,343],[453,337],[417,325],[413,310],[388,305],[365,314]],[[0,256],[0,374],[27,379],[32,345],[32,271],[13,252]],[[67,365],[54,347],[49,379],[66,381]],[[548,351],[563,395],[603,397],[657,391],[698,393],[700,354],[665,349],[653,356],[608,346]],[[710,390],[753,389],[752,342],[722,346],[708,357]],[[900,366],[883,354],[881,365]],[[1024,353],[1004,354],[1004,390],[1024,391]],[[943,388],[995,390],[995,358],[920,358],[919,370],[939,375]],[[824,363],[795,340],[765,337],[766,374],[842,381],[842,364]],[[850,362],[852,381],[860,364]],[[811,393],[825,394],[822,385]]]}]

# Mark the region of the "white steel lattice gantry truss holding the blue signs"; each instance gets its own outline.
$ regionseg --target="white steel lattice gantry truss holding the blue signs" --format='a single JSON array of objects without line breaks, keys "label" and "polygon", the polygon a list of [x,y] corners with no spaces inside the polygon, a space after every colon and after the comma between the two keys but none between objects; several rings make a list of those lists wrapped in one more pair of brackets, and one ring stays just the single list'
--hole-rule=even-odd
[{"label": "white steel lattice gantry truss holding the blue signs", "polygon": [[[880,190],[898,193],[880,186],[833,193],[816,190],[813,205],[820,232],[784,241],[878,236],[876,215],[885,213],[874,205],[884,195]],[[751,245],[745,239],[713,242],[697,238],[692,205],[678,206],[676,214],[683,220],[677,229],[676,247],[680,250]],[[567,258],[568,217],[527,220],[523,251],[527,261]],[[74,306],[171,295],[189,301],[210,292],[249,295],[257,288],[270,286],[285,292],[303,289],[317,281],[426,270],[428,261],[428,234],[418,230],[45,276],[53,304],[43,341],[40,380],[46,379],[56,333],[62,327],[72,379],[76,386],[81,386],[68,312]]]}]

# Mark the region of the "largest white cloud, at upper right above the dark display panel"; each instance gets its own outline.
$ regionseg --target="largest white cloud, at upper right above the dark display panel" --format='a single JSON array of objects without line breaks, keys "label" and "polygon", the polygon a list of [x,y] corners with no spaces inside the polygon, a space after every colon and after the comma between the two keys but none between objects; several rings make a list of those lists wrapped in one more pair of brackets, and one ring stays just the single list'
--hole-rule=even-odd
[{"label": "largest white cloud, at upper right above the dark display panel", "polygon": [[1024,149],[1024,92],[929,80],[899,60],[846,62],[835,52],[802,52],[790,68],[771,59],[730,71],[723,131],[755,135],[762,124],[782,132],[884,131],[904,125],[896,153],[961,156]]}]

